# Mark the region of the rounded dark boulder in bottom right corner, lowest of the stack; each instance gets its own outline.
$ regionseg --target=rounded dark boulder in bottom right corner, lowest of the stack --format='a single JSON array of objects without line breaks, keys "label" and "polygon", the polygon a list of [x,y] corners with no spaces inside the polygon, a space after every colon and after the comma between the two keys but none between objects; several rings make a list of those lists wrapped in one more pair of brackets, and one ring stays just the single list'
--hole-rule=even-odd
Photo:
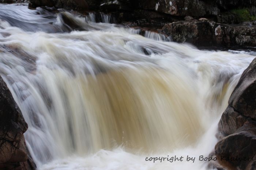
[{"label": "rounded dark boulder in bottom right corner, lowest of the stack", "polygon": [[255,169],[256,123],[246,122],[234,134],[226,136],[215,146],[219,163],[228,169]]}]

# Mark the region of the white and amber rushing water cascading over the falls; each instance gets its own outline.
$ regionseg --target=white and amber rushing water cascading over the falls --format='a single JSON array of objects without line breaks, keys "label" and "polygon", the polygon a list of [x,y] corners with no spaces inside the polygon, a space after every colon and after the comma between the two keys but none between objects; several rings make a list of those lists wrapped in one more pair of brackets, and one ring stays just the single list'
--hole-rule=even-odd
[{"label": "white and amber rushing water cascading over the falls", "polygon": [[[255,53],[201,51],[71,13],[0,5],[0,74],[38,169],[206,169]],[[110,22],[101,15],[102,22]],[[146,157],[196,157],[146,162]]]}]

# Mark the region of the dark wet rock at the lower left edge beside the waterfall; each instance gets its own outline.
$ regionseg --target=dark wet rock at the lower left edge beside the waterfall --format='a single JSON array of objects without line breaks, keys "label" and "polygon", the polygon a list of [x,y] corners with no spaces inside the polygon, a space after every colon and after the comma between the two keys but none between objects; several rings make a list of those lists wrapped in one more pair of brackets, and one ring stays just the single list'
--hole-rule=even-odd
[{"label": "dark wet rock at the lower left edge beside the waterfall", "polygon": [[[0,76],[0,168],[18,169],[27,165],[26,143],[23,133],[28,126],[10,90]],[[21,162],[23,165],[21,165]],[[31,162],[30,162],[31,163]]]}]

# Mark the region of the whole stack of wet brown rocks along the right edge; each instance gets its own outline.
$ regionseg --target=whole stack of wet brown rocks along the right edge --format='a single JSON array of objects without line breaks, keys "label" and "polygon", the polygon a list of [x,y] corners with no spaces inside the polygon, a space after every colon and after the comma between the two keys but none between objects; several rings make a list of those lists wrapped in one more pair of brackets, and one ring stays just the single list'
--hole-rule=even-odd
[{"label": "whole stack of wet brown rocks along the right edge", "polygon": [[219,121],[223,138],[215,146],[219,163],[228,169],[256,165],[256,59],[242,74]]}]

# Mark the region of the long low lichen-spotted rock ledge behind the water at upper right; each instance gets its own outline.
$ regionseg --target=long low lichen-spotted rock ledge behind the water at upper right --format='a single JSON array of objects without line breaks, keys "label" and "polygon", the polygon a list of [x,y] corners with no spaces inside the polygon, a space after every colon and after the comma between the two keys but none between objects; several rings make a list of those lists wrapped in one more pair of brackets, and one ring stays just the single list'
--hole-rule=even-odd
[{"label": "long low lichen-spotted rock ledge behind the water at upper right", "polygon": [[175,42],[196,46],[256,46],[256,27],[230,26],[206,18],[168,23],[162,31],[172,36]]}]

